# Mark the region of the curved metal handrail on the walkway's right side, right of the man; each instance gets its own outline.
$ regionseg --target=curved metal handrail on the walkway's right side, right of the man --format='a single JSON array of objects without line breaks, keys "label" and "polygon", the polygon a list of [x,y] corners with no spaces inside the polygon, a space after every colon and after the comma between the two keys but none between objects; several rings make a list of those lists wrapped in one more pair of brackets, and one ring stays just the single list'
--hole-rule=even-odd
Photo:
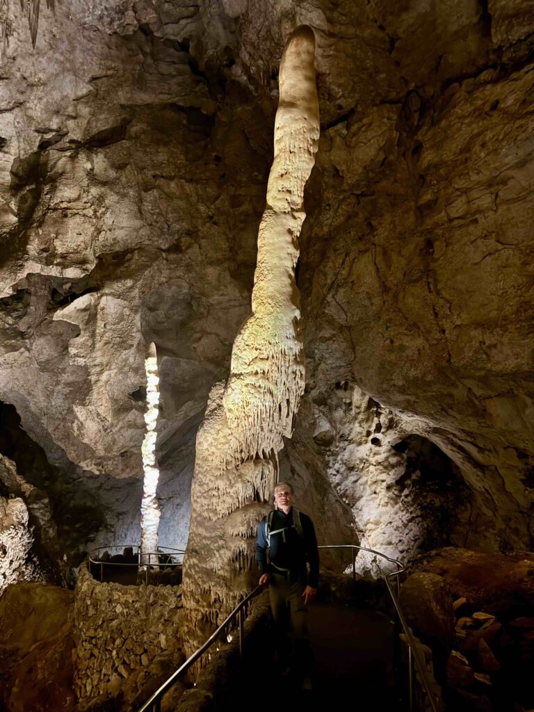
[{"label": "curved metal handrail on the walkway's right side, right of the man", "polygon": [[[408,643],[408,650],[409,650],[409,708],[410,711],[412,711],[413,707],[413,692],[412,692],[412,658],[414,660],[415,666],[417,667],[417,671],[419,672],[419,676],[424,688],[424,691],[426,692],[426,696],[429,698],[429,703],[432,708],[432,712],[439,712],[439,704],[436,702],[436,699],[434,698],[434,691],[431,689],[431,684],[429,680],[429,675],[428,672],[426,671],[426,666],[424,665],[424,662],[421,659],[421,654],[419,653],[419,650],[417,649],[417,645],[415,644],[414,641],[414,636],[412,634],[411,629],[409,628],[409,625],[406,622],[406,619],[404,618],[404,614],[402,612],[402,608],[400,607],[399,600],[397,599],[397,595],[399,595],[400,591],[400,582],[399,582],[399,575],[402,574],[404,571],[404,565],[400,561],[397,561],[397,559],[392,559],[391,557],[382,554],[382,552],[376,551],[375,549],[367,549],[364,546],[357,546],[355,544],[332,544],[332,545],[323,545],[323,546],[318,546],[318,549],[352,549],[352,578],[353,580],[356,580],[356,550],[359,551],[367,551],[371,554],[376,554],[377,556],[382,557],[383,559],[389,561],[390,563],[394,564],[397,566],[396,571],[389,572],[389,574],[382,575],[381,577],[384,579],[384,582],[386,584],[387,590],[389,592],[389,595],[391,596],[391,599],[393,601],[393,605],[395,607],[395,610],[397,612],[397,616],[399,617],[400,624],[402,625],[402,629],[404,631],[404,635],[406,636],[407,643]],[[397,595],[395,595],[394,590],[392,588],[390,579],[393,577],[396,578],[397,580]]]}]

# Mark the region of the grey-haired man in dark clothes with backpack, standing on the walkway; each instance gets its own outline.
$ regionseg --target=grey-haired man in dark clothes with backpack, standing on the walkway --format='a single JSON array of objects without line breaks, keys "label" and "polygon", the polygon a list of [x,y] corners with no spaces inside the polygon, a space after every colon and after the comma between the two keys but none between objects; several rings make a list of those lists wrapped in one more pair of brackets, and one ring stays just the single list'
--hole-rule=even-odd
[{"label": "grey-haired man in dark clothes with backpack, standing on the walkway", "polygon": [[[286,661],[287,637],[293,639],[295,661],[303,676],[309,658],[305,614],[319,578],[319,554],[312,520],[293,507],[293,488],[283,482],[274,489],[275,510],[261,520],[256,539],[259,584],[269,585],[278,655]],[[310,565],[307,571],[306,562]]]}]

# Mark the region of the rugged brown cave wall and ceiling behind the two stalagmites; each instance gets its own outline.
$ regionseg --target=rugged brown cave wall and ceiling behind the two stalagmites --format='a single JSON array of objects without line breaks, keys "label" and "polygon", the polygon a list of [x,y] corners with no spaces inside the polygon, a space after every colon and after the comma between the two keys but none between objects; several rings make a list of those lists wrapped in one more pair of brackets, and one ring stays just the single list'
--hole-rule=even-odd
[{"label": "rugged brown cave wall and ceiling behind the two stalagmites", "polygon": [[164,486],[190,477],[250,312],[278,66],[306,23],[321,137],[298,438],[327,434],[316,467],[337,481],[382,414],[394,434],[375,446],[424,437],[460,468],[478,543],[526,548],[532,5],[63,0],[42,4],[35,48],[20,4],[2,13],[0,400],[51,466],[99,487],[140,478],[153,341]]}]

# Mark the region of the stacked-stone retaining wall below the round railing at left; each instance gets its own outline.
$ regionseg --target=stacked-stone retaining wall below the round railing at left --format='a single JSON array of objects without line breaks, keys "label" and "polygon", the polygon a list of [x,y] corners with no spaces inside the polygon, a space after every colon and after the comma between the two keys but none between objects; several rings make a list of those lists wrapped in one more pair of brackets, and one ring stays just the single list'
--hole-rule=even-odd
[{"label": "stacked-stone retaining wall below the round railing at left", "polygon": [[149,677],[167,677],[183,661],[181,624],[181,587],[100,583],[80,567],[73,629],[78,699],[120,691],[127,704]]}]

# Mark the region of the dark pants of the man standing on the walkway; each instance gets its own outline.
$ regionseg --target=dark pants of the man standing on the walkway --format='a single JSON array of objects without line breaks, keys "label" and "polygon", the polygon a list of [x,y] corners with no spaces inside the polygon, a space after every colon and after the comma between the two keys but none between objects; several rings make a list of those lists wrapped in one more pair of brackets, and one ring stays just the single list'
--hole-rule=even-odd
[{"label": "dark pants of the man standing on the walkway", "polygon": [[312,655],[302,597],[306,582],[290,582],[285,575],[271,573],[269,602],[273,614],[278,659],[282,666],[292,663],[295,672],[311,674]]}]

